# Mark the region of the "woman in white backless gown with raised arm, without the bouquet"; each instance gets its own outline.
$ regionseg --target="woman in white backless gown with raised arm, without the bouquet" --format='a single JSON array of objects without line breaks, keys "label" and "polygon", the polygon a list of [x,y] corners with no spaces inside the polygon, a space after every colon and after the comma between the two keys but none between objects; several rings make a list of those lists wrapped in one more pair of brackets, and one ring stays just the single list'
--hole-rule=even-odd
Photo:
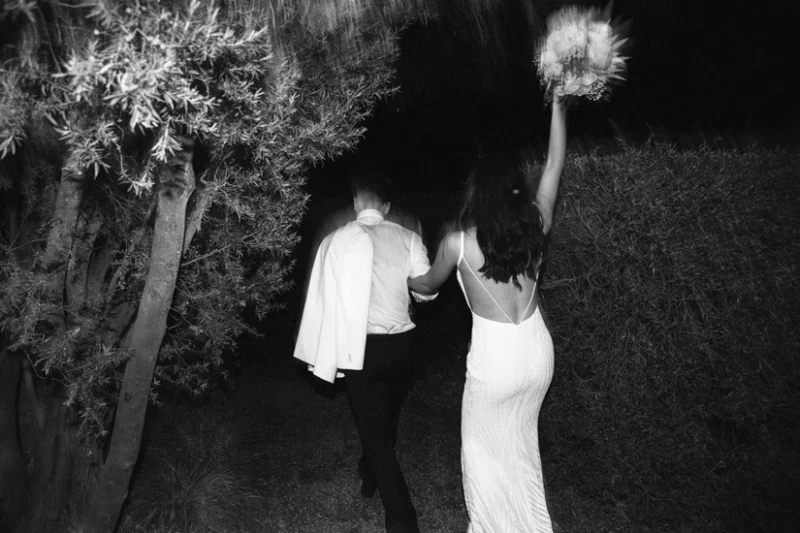
[{"label": "woman in white backless gown with raised arm, without the bouquet", "polygon": [[461,411],[468,533],[552,532],[539,458],[538,417],[553,376],[553,343],[536,292],[566,151],[554,96],[538,187],[517,158],[490,155],[470,175],[457,231],[431,270],[408,280],[432,294],[453,269],[472,311]]}]

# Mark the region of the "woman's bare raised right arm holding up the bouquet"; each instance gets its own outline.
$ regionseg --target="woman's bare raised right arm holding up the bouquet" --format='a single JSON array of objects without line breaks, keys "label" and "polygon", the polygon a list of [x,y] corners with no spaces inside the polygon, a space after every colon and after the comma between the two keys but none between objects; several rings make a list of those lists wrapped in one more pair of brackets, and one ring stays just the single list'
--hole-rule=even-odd
[{"label": "woman's bare raised right arm holding up the bouquet", "polygon": [[[536,191],[536,203],[542,211],[543,230],[550,231],[553,223],[553,208],[556,205],[558,184],[564,170],[564,158],[567,152],[566,110],[563,98],[553,95],[552,116],[550,119],[550,142],[547,148],[547,162]],[[531,179],[531,178],[529,178]],[[530,184],[531,188],[533,184]]]}]

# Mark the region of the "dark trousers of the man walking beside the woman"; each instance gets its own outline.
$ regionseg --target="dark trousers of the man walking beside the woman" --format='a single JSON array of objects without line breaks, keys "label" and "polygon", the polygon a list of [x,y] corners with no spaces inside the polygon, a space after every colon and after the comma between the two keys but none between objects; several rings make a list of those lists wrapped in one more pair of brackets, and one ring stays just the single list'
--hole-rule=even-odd
[{"label": "dark trousers of the man walking beside the woman", "polygon": [[362,370],[346,370],[347,392],[364,453],[363,486],[377,487],[388,533],[417,533],[417,512],[397,461],[397,426],[412,377],[415,330],[367,335]]}]

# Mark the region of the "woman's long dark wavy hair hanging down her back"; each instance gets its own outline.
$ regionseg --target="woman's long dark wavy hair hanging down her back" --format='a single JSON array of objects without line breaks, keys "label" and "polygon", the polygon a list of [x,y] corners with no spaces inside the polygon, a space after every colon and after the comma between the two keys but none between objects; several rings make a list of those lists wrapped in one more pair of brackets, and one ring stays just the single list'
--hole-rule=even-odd
[{"label": "woman's long dark wavy hair hanging down her back", "polygon": [[475,229],[484,264],[479,269],[488,279],[534,279],[547,240],[542,214],[525,180],[519,152],[495,151],[480,157],[467,180],[458,218],[462,231]]}]

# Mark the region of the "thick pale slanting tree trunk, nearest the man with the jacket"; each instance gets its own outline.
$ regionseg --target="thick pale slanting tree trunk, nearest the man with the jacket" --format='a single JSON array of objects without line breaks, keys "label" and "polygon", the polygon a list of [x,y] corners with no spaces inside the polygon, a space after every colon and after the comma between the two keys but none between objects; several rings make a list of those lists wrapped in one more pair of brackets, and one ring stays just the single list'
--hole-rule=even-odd
[{"label": "thick pale slanting tree trunk, nearest the man with the jacket", "polygon": [[156,357],[167,328],[183,250],[186,205],[194,188],[193,144],[187,140],[173,166],[159,166],[158,207],[142,300],[126,337],[133,357],[125,367],[108,458],[100,472],[87,533],[112,533],[128,495],[139,455]]}]

